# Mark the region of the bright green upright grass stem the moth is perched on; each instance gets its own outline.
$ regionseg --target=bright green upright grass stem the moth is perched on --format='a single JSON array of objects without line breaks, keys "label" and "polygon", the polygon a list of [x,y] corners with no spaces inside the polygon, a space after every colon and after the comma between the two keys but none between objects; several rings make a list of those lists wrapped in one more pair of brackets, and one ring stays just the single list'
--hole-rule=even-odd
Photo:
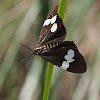
[{"label": "bright green upright grass stem the moth is perched on", "polygon": [[[67,4],[67,0],[60,0],[58,14],[62,20],[64,18],[66,4]],[[48,100],[50,84],[51,84],[51,79],[52,79],[52,74],[53,74],[53,67],[54,67],[53,64],[48,63],[47,76],[46,76],[44,93],[43,93],[43,100]]]}]

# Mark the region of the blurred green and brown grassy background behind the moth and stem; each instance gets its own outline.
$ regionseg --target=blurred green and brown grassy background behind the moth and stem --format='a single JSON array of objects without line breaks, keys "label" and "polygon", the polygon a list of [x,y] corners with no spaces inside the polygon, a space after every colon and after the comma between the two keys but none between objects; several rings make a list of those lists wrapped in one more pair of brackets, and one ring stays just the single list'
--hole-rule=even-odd
[{"label": "blurred green and brown grassy background behind the moth and stem", "polygon": [[[0,100],[42,100],[47,62],[33,50],[43,21],[59,0],[0,0]],[[85,57],[87,72],[74,74],[54,67],[49,100],[100,100],[100,0],[68,0],[66,40]]]}]

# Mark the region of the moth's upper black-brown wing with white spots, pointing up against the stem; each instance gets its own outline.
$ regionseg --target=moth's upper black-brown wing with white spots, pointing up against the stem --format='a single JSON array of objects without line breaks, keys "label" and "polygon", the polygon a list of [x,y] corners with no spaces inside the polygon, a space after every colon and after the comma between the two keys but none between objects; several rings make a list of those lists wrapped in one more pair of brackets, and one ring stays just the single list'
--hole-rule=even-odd
[{"label": "moth's upper black-brown wing with white spots, pointing up against the stem", "polygon": [[38,47],[55,41],[62,42],[65,39],[66,29],[57,11],[58,6],[49,13],[44,21],[39,37]]}]

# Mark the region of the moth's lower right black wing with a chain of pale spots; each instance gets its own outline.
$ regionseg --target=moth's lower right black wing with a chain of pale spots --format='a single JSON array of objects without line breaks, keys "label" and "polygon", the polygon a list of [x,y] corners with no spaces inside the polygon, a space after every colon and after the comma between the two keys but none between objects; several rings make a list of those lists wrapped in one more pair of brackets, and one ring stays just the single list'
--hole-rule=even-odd
[{"label": "moth's lower right black wing with a chain of pale spots", "polygon": [[43,51],[39,55],[69,72],[84,73],[86,71],[85,60],[73,42],[64,41],[57,47]]}]

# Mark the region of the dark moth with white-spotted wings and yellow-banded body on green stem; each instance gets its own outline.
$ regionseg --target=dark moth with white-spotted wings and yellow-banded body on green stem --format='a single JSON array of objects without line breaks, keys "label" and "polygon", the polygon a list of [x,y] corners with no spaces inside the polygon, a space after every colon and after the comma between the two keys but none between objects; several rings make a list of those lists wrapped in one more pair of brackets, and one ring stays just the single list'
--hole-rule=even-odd
[{"label": "dark moth with white-spotted wings and yellow-banded body on green stem", "polygon": [[84,57],[78,51],[73,41],[64,41],[66,29],[57,11],[58,6],[48,14],[44,21],[35,50],[21,44],[32,51],[21,63],[31,55],[39,55],[63,70],[73,73],[84,73],[87,69]]}]

